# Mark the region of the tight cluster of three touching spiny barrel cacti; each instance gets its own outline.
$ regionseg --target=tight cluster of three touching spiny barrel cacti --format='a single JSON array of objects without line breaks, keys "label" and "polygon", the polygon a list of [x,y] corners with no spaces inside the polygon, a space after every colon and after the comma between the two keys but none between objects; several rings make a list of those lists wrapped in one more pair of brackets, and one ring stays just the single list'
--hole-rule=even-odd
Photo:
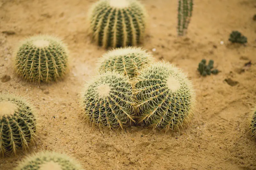
[{"label": "tight cluster of three touching spiny barrel cacti", "polygon": [[81,93],[83,115],[110,129],[132,123],[158,129],[179,129],[195,103],[191,82],[169,63],[154,62],[141,48],[117,48],[103,54],[99,75]]}]

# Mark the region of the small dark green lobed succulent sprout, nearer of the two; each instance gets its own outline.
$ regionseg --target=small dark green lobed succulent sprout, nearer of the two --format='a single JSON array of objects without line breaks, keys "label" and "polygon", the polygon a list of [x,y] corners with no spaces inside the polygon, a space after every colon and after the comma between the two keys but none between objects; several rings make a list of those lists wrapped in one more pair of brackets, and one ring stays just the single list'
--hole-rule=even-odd
[{"label": "small dark green lobed succulent sprout, nearer of the two", "polygon": [[206,65],[206,60],[202,59],[202,61],[198,64],[197,70],[200,72],[202,76],[211,75],[212,74],[218,74],[220,71],[218,69],[213,69],[213,60],[210,60],[208,65]]}]

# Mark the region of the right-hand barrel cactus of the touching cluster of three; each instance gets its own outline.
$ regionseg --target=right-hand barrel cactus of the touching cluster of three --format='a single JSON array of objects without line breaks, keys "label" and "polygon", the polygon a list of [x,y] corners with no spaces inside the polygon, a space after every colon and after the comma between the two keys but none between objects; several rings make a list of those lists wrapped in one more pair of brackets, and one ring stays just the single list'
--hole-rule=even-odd
[{"label": "right-hand barrel cactus of the touching cluster of three", "polygon": [[179,129],[192,115],[195,93],[185,74],[169,63],[141,70],[135,82],[139,123],[153,129]]}]

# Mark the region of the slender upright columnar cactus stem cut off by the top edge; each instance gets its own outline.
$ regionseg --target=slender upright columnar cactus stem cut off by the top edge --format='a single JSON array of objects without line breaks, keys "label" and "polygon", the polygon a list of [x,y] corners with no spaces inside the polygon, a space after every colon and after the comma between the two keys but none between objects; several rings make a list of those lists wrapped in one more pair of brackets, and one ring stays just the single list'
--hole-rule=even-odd
[{"label": "slender upright columnar cactus stem cut off by the top edge", "polygon": [[193,0],[178,0],[178,36],[183,36],[187,33],[192,11]]}]

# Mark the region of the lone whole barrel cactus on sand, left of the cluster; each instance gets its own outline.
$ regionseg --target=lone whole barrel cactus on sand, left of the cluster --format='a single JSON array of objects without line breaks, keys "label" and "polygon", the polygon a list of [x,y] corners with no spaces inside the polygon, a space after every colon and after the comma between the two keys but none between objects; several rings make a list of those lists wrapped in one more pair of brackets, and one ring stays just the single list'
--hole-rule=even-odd
[{"label": "lone whole barrel cactus on sand, left of the cluster", "polygon": [[68,51],[57,38],[38,35],[21,43],[15,58],[16,72],[22,78],[38,82],[57,81],[68,71]]}]

